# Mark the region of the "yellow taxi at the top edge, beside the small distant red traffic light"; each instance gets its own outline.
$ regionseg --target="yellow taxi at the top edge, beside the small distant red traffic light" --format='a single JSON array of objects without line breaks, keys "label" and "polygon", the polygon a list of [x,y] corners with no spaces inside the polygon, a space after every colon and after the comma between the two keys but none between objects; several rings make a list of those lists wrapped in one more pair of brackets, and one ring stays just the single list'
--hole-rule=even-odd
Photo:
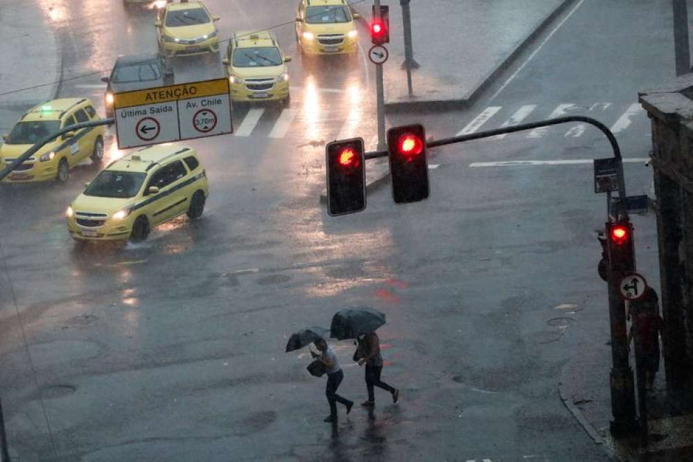
[{"label": "yellow taxi at the top edge, beside the small distant red traffic light", "polygon": [[358,32],[347,0],[301,0],[296,12],[296,40],[301,53],[356,53]]}]

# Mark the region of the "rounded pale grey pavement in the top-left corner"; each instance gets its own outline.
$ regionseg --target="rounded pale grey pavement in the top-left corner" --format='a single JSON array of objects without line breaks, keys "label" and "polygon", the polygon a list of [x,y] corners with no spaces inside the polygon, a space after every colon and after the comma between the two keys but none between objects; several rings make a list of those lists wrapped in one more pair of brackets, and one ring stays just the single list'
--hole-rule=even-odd
[{"label": "rounded pale grey pavement in the top-left corner", "polygon": [[[62,72],[62,55],[49,21],[33,1],[0,3],[0,132],[7,133],[29,107],[55,98]],[[38,18],[37,18],[38,17]],[[49,83],[51,85],[44,85]],[[37,88],[37,85],[43,85]],[[24,91],[16,91],[26,89]],[[5,94],[7,92],[11,92]]]}]

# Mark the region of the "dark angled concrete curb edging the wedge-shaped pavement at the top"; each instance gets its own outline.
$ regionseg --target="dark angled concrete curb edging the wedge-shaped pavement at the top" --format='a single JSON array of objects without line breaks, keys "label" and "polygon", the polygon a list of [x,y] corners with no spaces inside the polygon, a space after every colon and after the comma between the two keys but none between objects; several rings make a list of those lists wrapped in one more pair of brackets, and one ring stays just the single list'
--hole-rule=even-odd
[{"label": "dark angled concrete curb edging the wedge-shaped pavement at the top", "polygon": [[565,8],[567,8],[575,0],[564,0],[559,6],[557,6],[552,12],[550,12],[547,17],[541,20],[534,28],[532,32],[527,34],[527,36],[516,46],[498,66],[486,74],[486,77],[482,81],[469,91],[467,94],[462,96],[462,98],[450,98],[450,99],[435,99],[435,100],[412,100],[412,101],[385,101],[385,109],[389,112],[408,112],[411,110],[416,111],[436,111],[436,110],[446,110],[446,109],[461,109],[471,105],[482,92],[493,83],[496,77],[503,71],[505,71],[515,60],[517,55],[525,51],[527,46],[531,44],[537,35],[541,34],[545,28],[560,15]]}]

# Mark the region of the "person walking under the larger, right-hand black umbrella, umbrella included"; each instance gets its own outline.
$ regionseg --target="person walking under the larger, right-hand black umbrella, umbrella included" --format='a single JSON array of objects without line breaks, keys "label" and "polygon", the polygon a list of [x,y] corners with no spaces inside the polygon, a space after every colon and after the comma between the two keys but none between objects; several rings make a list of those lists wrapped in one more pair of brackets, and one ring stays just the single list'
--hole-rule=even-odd
[{"label": "person walking under the larger, right-hand black umbrella, umbrella included", "polygon": [[338,311],[332,318],[330,330],[332,337],[340,340],[357,339],[358,348],[353,360],[358,365],[366,364],[366,389],[368,400],[362,406],[375,404],[374,387],[387,390],[392,394],[392,401],[399,399],[399,390],[380,380],[383,371],[383,357],[380,356],[380,340],[375,330],[385,324],[385,314],[372,308],[349,308]]}]

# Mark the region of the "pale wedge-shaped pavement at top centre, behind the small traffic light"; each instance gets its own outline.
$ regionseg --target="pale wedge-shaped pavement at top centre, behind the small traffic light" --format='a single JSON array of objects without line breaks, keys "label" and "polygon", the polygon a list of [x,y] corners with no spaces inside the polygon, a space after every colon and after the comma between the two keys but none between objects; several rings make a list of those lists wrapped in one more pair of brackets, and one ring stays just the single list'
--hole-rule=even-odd
[{"label": "pale wedge-shaped pavement at top centre, behind the small traffic light", "polygon": [[[414,96],[407,89],[402,7],[389,5],[389,60],[383,64],[388,109],[462,107],[493,82],[500,71],[541,33],[572,0],[437,0],[412,1]],[[366,21],[370,1],[354,10]]]}]

